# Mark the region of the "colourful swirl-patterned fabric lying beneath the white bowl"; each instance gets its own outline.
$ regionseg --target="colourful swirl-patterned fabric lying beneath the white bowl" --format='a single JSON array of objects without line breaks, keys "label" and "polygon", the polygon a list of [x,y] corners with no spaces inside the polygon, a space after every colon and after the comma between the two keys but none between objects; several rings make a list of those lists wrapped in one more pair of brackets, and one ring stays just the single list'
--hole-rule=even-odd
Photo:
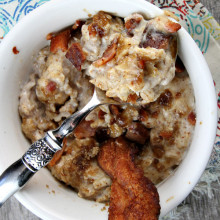
[{"label": "colourful swirl-patterned fabric lying beneath the white bowl", "polygon": [[[49,0],[0,0],[0,42],[10,29],[26,14]],[[175,13],[179,22],[190,33],[205,56],[211,70],[218,96],[220,110],[220,26],[199,0],[148,0],[161,9]],[[217,56],[213,56],[213,54]],[[198,192],[212,195],[211,183],[220,177],[220,118],[218,119],[216,141],[208,166],[194,188]],[[205,183],[205,186],[204,186]],[[197,195],[197,199],[199,199]],[[187,209],[183,202],[163,219],[180,219]]]}]

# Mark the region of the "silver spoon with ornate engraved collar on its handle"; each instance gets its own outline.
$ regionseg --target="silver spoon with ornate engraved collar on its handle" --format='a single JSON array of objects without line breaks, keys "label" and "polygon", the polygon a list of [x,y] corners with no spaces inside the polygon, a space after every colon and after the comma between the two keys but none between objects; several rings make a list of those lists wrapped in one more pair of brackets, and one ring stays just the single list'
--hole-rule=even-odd
[{"label": "silver spoon with ornate engraved collar on its handle", "polygon": [[59,128],[48,131],[44,138],[30,146],[22,158],[9,166],[0,176],[0,207],[19,191],[38,170],[51,161],[54,154],[62,149],[64,137],[70,134],[83,118],[98,106],[105,104],[127,103],[116,102],[103,95],[101,90],[94,89],[92,98],[80,111],[67,118]]}]

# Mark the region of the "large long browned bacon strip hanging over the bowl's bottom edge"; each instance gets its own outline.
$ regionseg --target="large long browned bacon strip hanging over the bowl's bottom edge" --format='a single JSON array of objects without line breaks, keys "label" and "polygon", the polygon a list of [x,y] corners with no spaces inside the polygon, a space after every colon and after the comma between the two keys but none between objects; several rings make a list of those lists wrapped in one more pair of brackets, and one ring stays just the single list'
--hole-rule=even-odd
[{"label": "large long browned bacon strip hanging over the bowl's bottom edge", "polygon": [[134,152],[121,137],[106,142],[99,152],[98,163],[112,178],[109,220],[158,219],[157,189],[135,166]]}]

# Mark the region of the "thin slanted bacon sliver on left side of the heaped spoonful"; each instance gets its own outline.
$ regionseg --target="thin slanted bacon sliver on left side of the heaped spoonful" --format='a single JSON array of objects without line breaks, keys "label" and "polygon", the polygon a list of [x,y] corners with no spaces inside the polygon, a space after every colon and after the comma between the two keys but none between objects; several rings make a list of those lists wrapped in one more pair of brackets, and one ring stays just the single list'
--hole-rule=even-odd
[{"label": "thin slanted bacon sliver on left side of the heaped spoonful", "polygon": [[103,53],[102,58],[96,60],[93,64],[96,67],[99,67],[109,62],[111,59],[115,57],[117,47],[118,47],[118,38],[115,38]]}]

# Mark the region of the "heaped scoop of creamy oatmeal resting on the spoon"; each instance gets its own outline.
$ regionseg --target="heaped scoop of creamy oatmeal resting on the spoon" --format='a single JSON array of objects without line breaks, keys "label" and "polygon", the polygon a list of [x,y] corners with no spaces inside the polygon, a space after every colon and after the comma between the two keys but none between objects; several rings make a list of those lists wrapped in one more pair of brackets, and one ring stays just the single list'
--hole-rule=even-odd
[{"label": "heaped scoop of creamy oatmeal resting on the spoon", "polygon": [[[119,97],[129,102],[135,97],[141,104],[155,101],[175,75],[177,53],[176,31],[179,24],[161,16],[147,21],[139,14],[125,18],[125,28],[110,25],[107,20],[104,36],[98,39],[82,28],[82,41],[92,44],[86,50],[89,58],[96,55],[87,70],[96,87],[105,90],[108,97]],[[117,24],[117,23],[116,23]],[[97,39],[96,44],[93,39]],[[98,48],[108,47],[103,52]],[[99,58],[97,60],[97,57]]]}]

